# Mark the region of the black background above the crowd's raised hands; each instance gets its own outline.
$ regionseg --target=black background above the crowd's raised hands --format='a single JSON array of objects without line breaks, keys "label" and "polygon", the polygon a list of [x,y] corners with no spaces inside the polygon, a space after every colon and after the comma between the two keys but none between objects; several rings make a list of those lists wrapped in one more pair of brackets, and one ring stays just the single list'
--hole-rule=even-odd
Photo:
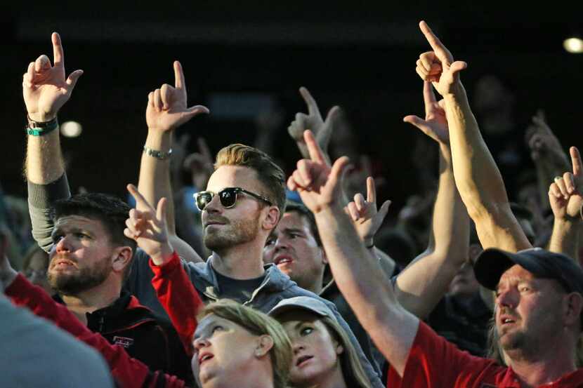
[{"label": "black background above the crowd's raised hands", "polygon": [[[402,123],[406,114],[423,112],[414,63],[428,45],[419,20],[433,27],[456,59],[469,63],[462,79],[470,96],[483,74],[497,74],[513,89],[512,141],[524,141],[530,116],[543,108],[567,147],[580,145],[583,104],[583,54],[562,47],[568,34],[583,27],[581,8],[569,7],[458,1],[12,4],[0,16],[1,184],[8,194],[25,195],[22,73],[43,53],[52,59],[50,34],[58,31],[67,74],[85,72],[59,115],[61,122],[84,126],[81,137],[63,140],[74,189],[124,195],[126,182],[136,182],[148,93],[173,82],[172,61],[178,59],[190,105],[214,100],[214,112],[222,112],[197,117],[181,131],[206,137],[213,152],[230,142],[251,143],[257,104],[249,103],[247,115],[228,113],[244,110],[247,93],[268,96],[285,112],[277,149],[289,171],[299,154],[286,128],[306,110],[297,89],[307,86],[322,112],[336,104],[346,110],[359,149],[388,180],[383,196],[399,205],[419,189],[412,147],[421,133]],[[223,93],[235,97],[235,105],[225,105]]]}]

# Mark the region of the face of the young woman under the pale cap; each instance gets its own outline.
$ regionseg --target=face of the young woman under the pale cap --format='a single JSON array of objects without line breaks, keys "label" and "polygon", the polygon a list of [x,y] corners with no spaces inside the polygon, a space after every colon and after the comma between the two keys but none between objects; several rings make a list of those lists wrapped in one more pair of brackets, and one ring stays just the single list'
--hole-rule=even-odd
[{"label": "face of the young woman under the pale cap", "polygon": [[289,379],[296,387],[313,387],[341,375],[343,347],[314,314],[292,311],[277,317],[292,341],[294,358]]}]

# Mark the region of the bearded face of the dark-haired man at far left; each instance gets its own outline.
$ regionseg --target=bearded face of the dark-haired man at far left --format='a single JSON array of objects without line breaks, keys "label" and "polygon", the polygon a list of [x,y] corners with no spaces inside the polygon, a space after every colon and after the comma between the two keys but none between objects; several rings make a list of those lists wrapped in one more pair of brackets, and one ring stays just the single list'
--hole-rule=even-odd
[{"label": "bearded face of the dark-haired man at far left", "polygon": [[99,220],[66,215],[51,234],[48,282],[65,295],[75,295],[103,283],[112,272],[114,247]]}]

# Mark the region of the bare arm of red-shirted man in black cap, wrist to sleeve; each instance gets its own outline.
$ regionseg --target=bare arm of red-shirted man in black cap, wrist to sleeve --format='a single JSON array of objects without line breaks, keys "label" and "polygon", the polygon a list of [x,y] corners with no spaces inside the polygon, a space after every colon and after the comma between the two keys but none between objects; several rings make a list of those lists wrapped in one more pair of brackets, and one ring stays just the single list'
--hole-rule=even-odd
[{"label": "bare arm of red-shirted man in black cap, wrist to sleeve", "polygon": [[315,214],[334,280],[362,326],[397,370],[405,361],[419,321],[402,309],[375,257],[371,257],[344,210]]}]

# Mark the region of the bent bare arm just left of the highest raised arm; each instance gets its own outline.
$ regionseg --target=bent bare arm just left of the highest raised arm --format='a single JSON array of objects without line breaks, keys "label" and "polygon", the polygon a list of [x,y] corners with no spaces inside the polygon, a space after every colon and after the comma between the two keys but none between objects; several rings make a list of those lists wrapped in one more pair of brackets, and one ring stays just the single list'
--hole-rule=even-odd
[{"label": "bent bare arm just left of the highest raised arm", "polygon": [[440,147],[440,177],[429,244],[397,278],[400,304],[420,319],[431,313],[464,264],[469,250],[469,217],[455,187],[449,147]]}]

